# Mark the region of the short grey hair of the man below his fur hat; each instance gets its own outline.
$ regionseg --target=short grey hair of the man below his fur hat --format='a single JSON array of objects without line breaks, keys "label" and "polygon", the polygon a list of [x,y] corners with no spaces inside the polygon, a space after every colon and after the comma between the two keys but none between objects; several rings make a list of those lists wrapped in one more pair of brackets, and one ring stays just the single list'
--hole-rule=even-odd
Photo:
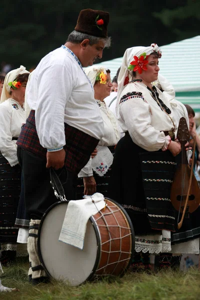
[{"label": "short grey hair of the man below his fur hat", "polygon": [[66,41],[72,43],[81,43],[84,39],[89,39],[89,45],[92,46],[93,44],[98,43],[98,41],[102,40],[104,42],[104,47],[109,47],[111,38],[109,37],[97,37],[93,35],[89,35],[86,33],[78,32],[73,30],[69,35]]}]

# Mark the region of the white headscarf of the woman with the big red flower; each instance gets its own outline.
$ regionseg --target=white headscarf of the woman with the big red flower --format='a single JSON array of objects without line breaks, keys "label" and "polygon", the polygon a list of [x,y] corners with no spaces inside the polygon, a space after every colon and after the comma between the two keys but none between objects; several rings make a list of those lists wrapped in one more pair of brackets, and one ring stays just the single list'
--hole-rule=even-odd
[{"label": "white headscarf of the woman with the big red flower", "polygon": [[[123,54],[122,64],[118,75],[118,92],[117,92],[117,103],[119,102],[121,93],[126,86],[124,85],[125,77],[129,77],[129,81],[132,80],[132,71],[128,71],[128,66],[130,62],[134,59],[133,56],[139,56],[142,53],[146,53],[146,55],[151,54],[152,52],[157,52],[159,56],[161,57],[161,50],[158,47],[157,44],[152,43],[149,47],[143,47],[143,46],[137,46],[137,47],[131,47],[127,48],[125,50],[125,53]],[[118,105],[117,105],[118,106]]]}]

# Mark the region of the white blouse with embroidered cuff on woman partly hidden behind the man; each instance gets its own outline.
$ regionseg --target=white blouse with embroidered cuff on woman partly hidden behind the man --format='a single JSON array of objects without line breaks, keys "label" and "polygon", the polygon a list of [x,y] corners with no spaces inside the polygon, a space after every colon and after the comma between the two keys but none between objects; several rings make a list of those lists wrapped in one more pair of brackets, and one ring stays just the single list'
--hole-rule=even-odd
[{"label": "white blouse with embroidered cuff on woman partly hidden behind the man", "polygon": [[103,176],[113,161],[113,156],[107,146],[113,146],[117,144],[119,140],[119,131],[113,113],[108,107],[106,107],[104,102],[100,100],[96,101],[99,105],[100,113],[103,119],[104,135],[99,140],[96,147],[96,156],[89,159],[87,164],[78,173],[78,177],[92,176],[93,171],[95,171],[99,176]]}]

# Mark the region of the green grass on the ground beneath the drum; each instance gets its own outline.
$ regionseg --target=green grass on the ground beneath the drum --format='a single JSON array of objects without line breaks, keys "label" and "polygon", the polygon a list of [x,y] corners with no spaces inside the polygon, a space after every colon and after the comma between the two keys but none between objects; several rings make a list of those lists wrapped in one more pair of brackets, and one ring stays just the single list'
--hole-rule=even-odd
[{"label": "green grass on the ground beneath the drum", "polygon": [[16,287],[18,292],[1,292],[0,300],[199,300],[200,272],[162,270],[157,273],[129,273],[122,278],[87,282],[71,287],[52,281],[32,286],[27,282],[28,263],[18,260],[4,267],[2,284]]}]

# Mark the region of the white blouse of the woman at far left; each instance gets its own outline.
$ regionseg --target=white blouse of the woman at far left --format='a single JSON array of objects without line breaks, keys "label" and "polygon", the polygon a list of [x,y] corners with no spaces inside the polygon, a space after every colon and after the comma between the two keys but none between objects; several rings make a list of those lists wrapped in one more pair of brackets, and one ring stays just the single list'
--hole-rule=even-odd
[{"label": "white blouse of the woman at far left", "polygon": [[11,166],[18,163],[16,140],[22,124],[25,123],[25,112],[14,99],[7,99],[0,104],[0,151]]}]

